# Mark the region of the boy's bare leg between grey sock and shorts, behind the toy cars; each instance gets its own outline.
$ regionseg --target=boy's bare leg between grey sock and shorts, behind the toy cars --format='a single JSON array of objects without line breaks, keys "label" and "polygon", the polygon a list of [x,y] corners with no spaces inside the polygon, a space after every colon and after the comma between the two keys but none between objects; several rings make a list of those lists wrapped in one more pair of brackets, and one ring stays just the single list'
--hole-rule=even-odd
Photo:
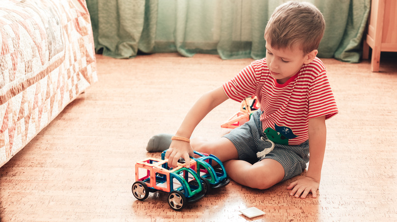
[{"label": "boy's bare leg between grey sock and shorts, behind the toy cars", "polygon": [[239,158],[236,147],[225,137],[220,137],[214,141],[207,141],[202,137],[194,137],[190,139],[190,145],[193,150],[212,154],[221,162],[237,160]]}]

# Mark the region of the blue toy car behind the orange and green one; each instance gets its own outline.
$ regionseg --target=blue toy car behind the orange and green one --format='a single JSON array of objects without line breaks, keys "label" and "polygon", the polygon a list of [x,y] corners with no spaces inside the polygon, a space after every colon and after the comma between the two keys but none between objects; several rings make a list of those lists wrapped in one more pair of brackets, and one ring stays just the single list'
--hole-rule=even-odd
[{"label": "blue toy car behind the orange and green one", "polygon": [[[161,154],[162,160],[165,159],[165,152]],[[230,179],[222,162],[216,156],[194,151],[194,157],[190,158],[195,161],[190,165],[190,168],[196,171],[202,180],[207,180],[211,189],[221,188],[229,184]],[[216,166],[215,169],[213,165]]]}]

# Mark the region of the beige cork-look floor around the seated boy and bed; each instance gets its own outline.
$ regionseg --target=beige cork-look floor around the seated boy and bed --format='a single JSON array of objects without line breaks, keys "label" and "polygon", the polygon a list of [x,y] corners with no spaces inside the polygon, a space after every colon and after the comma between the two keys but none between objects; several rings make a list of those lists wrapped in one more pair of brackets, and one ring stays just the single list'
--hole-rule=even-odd
[{"label": "beige cork-look floor around the seated boy and bed", "polygon": [[[135,162],[157,133],[174,133],[193,102],[232,78],[251,59],[215,55],[97,56],[99,82],[80,95],[0,168],[1,221],[396,221],[397,59],[324,59],[339,114],[327,121],[319,197],[291,198],[289,181],[265,191],[235,182],[181,212],[164,193],[131,193]],[[213,139],[240,104],[226,101],[194,132]],[[239,210],[265,215],[249,219]]]}]

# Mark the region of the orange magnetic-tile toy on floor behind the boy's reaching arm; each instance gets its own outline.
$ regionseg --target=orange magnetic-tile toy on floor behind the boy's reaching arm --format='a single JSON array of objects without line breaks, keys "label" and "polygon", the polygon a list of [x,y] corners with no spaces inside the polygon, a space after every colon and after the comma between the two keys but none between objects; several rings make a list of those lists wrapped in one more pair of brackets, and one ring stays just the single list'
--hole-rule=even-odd
[{"label": "orange magnetic-tile toy on floor behind the boy's reaching arm", "polygon": [[249,96],[241,102],[240,111],[233,115],[228,122],[220,125],[222,128],[237,128],[249,121],[251,114],[259,109],[259,103],[256,96]]}]

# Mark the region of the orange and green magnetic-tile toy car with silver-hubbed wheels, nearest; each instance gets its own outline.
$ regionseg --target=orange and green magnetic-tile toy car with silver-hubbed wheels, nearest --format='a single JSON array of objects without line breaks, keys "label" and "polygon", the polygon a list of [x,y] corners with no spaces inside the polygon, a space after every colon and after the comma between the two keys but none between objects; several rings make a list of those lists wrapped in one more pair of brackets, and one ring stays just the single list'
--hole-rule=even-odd
[{"label": "orange and green magnetic-tile toy car with silver-hubbed wheels, nearest", "polygon": [[[196,162],[190,159],[190,164]],[[203,198],[210,184],[202,180],[186,163],[178,163],[176,168],[169,168],[167,160],[147,158],[135,164],[135,182],[132,194],[138,200],[145,200],[149,192],[168,193],[168,204],[174,210],[183,209],[187,203]]]}]

